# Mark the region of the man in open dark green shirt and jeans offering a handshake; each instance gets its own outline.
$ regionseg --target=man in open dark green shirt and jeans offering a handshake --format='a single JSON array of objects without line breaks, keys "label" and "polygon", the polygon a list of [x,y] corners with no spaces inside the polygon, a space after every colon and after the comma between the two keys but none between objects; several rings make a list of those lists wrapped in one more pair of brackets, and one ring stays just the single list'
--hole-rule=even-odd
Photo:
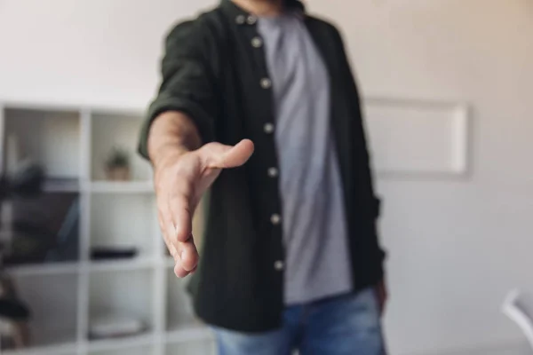
[{"label": "man in open dark green shirt and jeans offering a handshake", "polygon": [[222,0],[171,31],[162,72],[139,151],[219,353],[382,354],[378,200],[338,31],[296,0]]}]

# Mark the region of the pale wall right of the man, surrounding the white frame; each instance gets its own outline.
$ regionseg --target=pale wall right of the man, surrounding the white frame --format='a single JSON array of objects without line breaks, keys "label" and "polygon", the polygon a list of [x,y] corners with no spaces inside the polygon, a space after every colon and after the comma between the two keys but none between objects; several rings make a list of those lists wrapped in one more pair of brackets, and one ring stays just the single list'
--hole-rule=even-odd
[{"label": "pale wall right of the man, surrounding the white frame", "polygon": [[533,3],[342,3],[314,8],[344,28],[365,93],[473,107],[470,178],[379,181],[394,354],[520,338],[498,305],[508,288],[533,288]]}]

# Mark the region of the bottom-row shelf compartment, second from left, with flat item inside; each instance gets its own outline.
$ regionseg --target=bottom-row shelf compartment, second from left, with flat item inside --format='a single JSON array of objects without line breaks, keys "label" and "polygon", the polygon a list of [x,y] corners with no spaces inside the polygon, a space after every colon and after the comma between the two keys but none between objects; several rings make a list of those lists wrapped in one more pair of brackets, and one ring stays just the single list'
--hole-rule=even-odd
[{"label": "bottom-row shelf compartment, second from left, with flat item inside", "polygon": [[[147,327],[146,331],[139,334],[116,339],[99,339],[91,343],[129,343],[152,335],[155,309],[154,286],[155,272],[153,270],[91,272],[90,324],[103,315],[114,315],[139,319]],[[102,348],[102,350],[106,349]]]}]

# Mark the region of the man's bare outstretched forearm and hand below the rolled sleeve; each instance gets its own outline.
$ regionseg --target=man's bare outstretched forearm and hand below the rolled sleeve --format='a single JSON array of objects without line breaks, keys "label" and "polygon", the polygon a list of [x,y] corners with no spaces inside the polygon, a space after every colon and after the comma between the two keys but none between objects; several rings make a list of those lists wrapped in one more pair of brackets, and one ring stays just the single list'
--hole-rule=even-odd
[{"label": "man's bare outstretched forearm and hand below the rolled sleeve", "polygon": [[222,169],[243,165],[253,153],[253,144],[245,139],[236,146],[201,146],[187,114],[167,111],[152,123],[147,147],[154,165],[159,225],[174,258],[174,272],[185,277],[198,264],[192,224],[203,193]]}]

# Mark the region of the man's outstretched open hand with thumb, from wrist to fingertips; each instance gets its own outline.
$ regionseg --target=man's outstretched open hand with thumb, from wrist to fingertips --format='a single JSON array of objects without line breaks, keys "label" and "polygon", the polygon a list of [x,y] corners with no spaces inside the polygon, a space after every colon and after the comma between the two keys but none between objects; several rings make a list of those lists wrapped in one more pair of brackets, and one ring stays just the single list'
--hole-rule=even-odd
[{"label": "man's outstretched open hand with thumb, from wrist to fingertips", "polygon": [[249,139],[243,139],[236,146],[209,143],[195,151],[171,155],[156,167],[159,225],[174,258],[176,276],[182,278],[195,272],[198,264],[192,221],[203,193],[223,169],[247,162],[253,150]]}]

